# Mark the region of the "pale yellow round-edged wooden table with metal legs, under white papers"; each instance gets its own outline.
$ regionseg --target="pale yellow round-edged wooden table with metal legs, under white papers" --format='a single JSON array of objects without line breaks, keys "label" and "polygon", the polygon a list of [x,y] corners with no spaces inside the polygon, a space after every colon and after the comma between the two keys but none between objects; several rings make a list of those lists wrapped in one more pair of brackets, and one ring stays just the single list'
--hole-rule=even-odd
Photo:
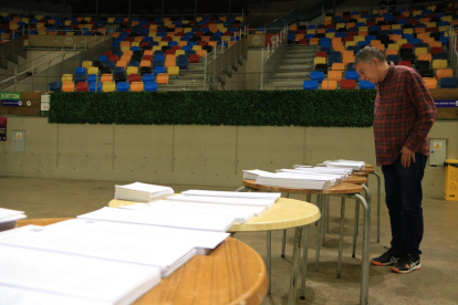
[{"label": "pale yellow round-edged wooden table with metal legs, under white papers", "polygon": [[[110,201],[108,207],[118,208],[122,206],[128,206],[139,202],[124,201],[113,199]],[[300,261],[301,242],[303,248],[303,269],[302,278],[306,276],[306,261],[308,261],[308,244],[309,244],[309,224],[315,222],[321,217],[320,210],[314,204],[280,198],[277,200],[272,208],[266,210],[259,217],[254,217],[246,223],[235,223],[228,232],[259,232],[267,231],[268,245],[267,245],[267,267],[269,274],[269,283],[271,282],[271,231],[283,229],[295,229],[294,233],[294,246],[293,246],[293,266],[290,280],[290,291],[288,295],[288,304],[295,304],[295,291],[298,286],[298,271]],[[269,285],[270,291],[270,285]],[[301,291],[305,291],[305,281],[302,281]],[[304,293],[303,293],[304,294]]]}]

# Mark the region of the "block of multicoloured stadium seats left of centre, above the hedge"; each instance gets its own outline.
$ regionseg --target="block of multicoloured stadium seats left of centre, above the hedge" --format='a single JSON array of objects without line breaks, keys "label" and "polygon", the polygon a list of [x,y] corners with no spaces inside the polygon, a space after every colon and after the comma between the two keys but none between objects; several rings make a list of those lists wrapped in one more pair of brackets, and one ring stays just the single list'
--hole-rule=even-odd
[{"label": "block of multicoloured stadium seats left of centre, above the hedge", "polygon": [[[240,23],[235,18],[197,20],[198,27],[192,27],[192,21],[165,18],[164,22],[157,19],[142,25],[134,21],[134,28],[118,29],[113,35],[112,50],[96,61],[83,62],[74,71],[75,88],[98,91],[91,83],[102,83],[104,92],[155,91],[157,84],[167,85],[171,77],[188,70],[189,64],[201,62],[216,46],[229,46],[240,39],[237,32]],[[80,82],[87,82],[89,86],[79,90]],[[66,87],[70,90],[70,85]]]}]

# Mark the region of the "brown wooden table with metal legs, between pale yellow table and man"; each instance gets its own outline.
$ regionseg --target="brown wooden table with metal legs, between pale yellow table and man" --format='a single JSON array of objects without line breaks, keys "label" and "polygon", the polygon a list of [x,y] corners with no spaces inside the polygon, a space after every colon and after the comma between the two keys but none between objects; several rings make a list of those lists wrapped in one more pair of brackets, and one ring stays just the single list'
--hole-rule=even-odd
[{"label": "brown wooden table with metal legs, between pale yellow table and man", "polygon": [[[296,188],[280,188],[280,187],[271,187],[271,186],[262,186],[257,185],[256,180],[248,180],[243,179],[243,187],[238,189],[238,191],[250,191],[250,190],[266,190],[266,191],[273,191],[273,192],[284,192],[287,197],[289,197],[290,192],[296,193],[306,193],[308,201],[310,202],[310,196],[312,193],[318,194],[318,208],[322,211],[323,217],[321,221],[319,221],[318,234],[316,234],[316,255],[315,255],[315,271],[319,270],[319,259],[320,259],[320,240],[324,244],[324,213],[325,209],[323,209],[323,204],[325,202],[326,196],[339,196],[342,197],[342,204],[341,204],[341,236],[340,236],[340,245],[339,245],[339,266],[337,266],[337,277],[340,277],[341,266],[342,266],[342,249],[343,249],[343,222],[344,222],[344,214],[345,214],[345,198],[355,199],[356,202],[360,202],[364,208],[364,227],[363,227],[363,255],[362,255],[362,277],[361,277],[361,293],[360,293],[360,304],[365,305],[368,303],[368,275],[369,275],[369,236],[371,236],[371,206],[367,201],[360,194],[366,187],[363,185],[353,185],[347,182],[342,182],[331,188],[324,190],[311,190],[311,189],[296,189]],[[367,193],[367,192],[366,192]],[[356,208],[358,204],[356,204]],[[356,230],[356,221],[355,221],[355,230]],[[356,232],[356,231],[355,231]],[[321,238],[321,239],[320,239]],[[353,240],[353,256],[355,255],[355,246],[356,246],[356,234],[354,234]],[[268,235],[269,240],[269,235]],[[282,246],[282,255],[284,255],[284,240],[285,240],[285,231],[283,231],[283,246]],[[294,239],[295,241],[295,239]],[[269,242],[269,241],[268,241]],[[305,251],[304,251],[305,253]],[[268,257],[269,259],[269,257]],[[302,278],[305,278],[304,276]],[[304,291],[301,290],[301,299],[304,299]]]}]

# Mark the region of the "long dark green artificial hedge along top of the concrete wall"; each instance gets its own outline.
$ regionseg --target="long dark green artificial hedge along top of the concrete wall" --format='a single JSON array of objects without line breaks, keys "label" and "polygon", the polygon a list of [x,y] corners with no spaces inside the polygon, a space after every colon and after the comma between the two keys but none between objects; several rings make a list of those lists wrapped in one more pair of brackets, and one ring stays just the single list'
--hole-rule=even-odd
[{"label": "long dark green artificial hedge along top of the concrete wall", "polygon": [[375,90],[52,93],[49,123],[369,127]]}]

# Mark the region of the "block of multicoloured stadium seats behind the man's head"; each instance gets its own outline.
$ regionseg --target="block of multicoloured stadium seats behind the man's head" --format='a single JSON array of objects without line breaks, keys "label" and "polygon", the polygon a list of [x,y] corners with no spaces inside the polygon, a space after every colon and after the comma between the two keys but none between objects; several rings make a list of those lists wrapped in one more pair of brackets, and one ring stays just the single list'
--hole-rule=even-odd
[{"label": "block of multicoloured stadium seats behind the man's head", "polygon": [[[327,14],[323,24],[291,25],[289,44],[314,46],[314,72],[304,81],[304,90],[356,88],[360,77],[354,71],[355,55],[366,45],[384,52],[388,61],[416,69],[429,88],[456,85],[446,53],[451,3],[416,8],[414,18],[405,9],[374,11],[375,21],[368,21],[367,11],[336,13],[335,23]],[[458,30],[457,30],[458,32]],[[326,75],[326,77],[324,77]],[[444,80],[444,81],[443,81]],[[340,86],[339,86],[340,85]],[[373,88],[360,83],[360,88]]]}]

